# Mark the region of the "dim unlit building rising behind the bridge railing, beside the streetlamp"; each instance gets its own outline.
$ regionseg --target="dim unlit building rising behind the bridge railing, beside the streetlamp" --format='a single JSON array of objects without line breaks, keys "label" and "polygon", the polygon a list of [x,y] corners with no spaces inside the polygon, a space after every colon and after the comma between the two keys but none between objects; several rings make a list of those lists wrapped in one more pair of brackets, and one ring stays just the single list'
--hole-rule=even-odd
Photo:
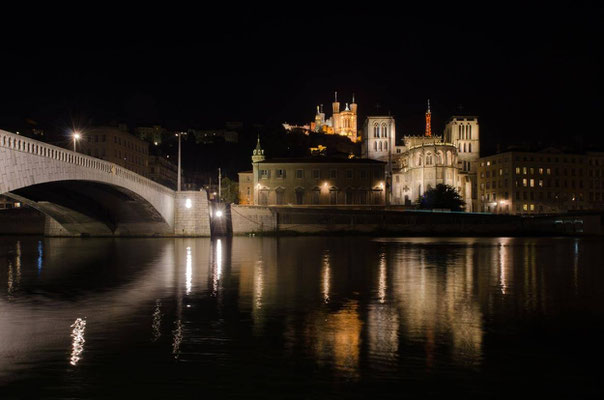
[{"label": "dim unlit building rising behind the bridge railing, beside the streetlamp", "polygon": [[149,144],[123,127],[97,127],[82,134],[78,151],[148,176]]}]

